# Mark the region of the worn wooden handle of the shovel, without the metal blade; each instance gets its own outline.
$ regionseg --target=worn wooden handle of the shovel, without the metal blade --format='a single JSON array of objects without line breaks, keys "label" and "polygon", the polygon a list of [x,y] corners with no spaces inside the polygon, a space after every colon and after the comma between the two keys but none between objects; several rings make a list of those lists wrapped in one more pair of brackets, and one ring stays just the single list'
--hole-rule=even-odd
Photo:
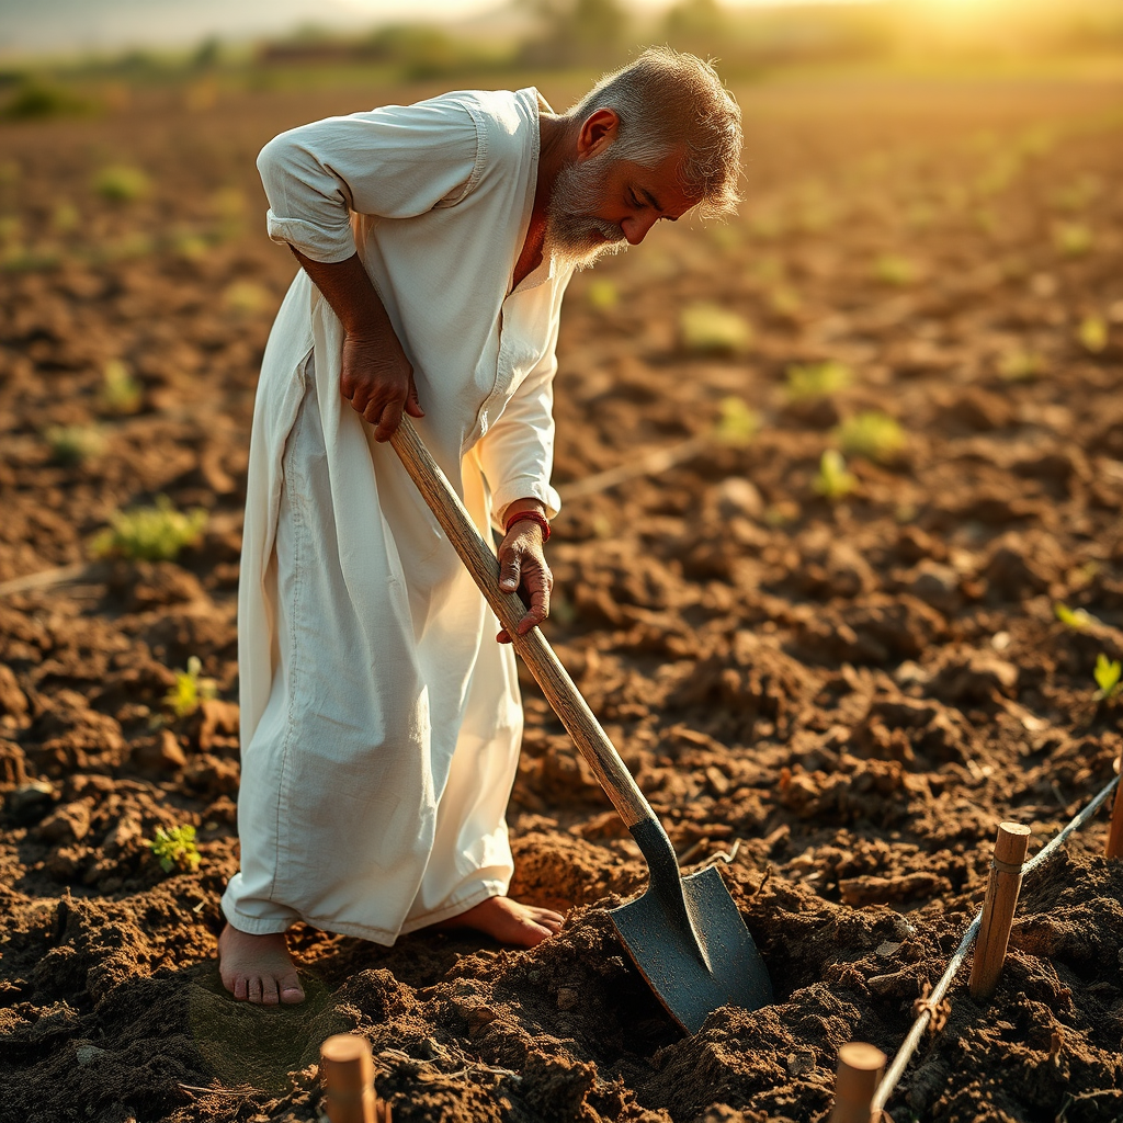
[{"label": "worn wooden handle of the shovel, without the metal blade", "polygon": [[481,537],[472,515],[441,472],[440,465],[424,447],[409,418],[402,418],[390,444],[401,457],[405,471],[418,485],[430,510],[437,515],[437,521],[459,554],[460,560],[468,567],[468,573],[499,617],[500,623],[506,629],[515,651],[522,656],[546,700],[592,766],[601,787],[620,812],[624,824],[631,828],[643,820],[655,820],[655,812],[643,798],[643,793],[546,637],[537,628],[531,628],[526,636],[515,632],[514,626],[526,615],[526,605],[518,594],[504,593],[499,587],[499,559]]}]

